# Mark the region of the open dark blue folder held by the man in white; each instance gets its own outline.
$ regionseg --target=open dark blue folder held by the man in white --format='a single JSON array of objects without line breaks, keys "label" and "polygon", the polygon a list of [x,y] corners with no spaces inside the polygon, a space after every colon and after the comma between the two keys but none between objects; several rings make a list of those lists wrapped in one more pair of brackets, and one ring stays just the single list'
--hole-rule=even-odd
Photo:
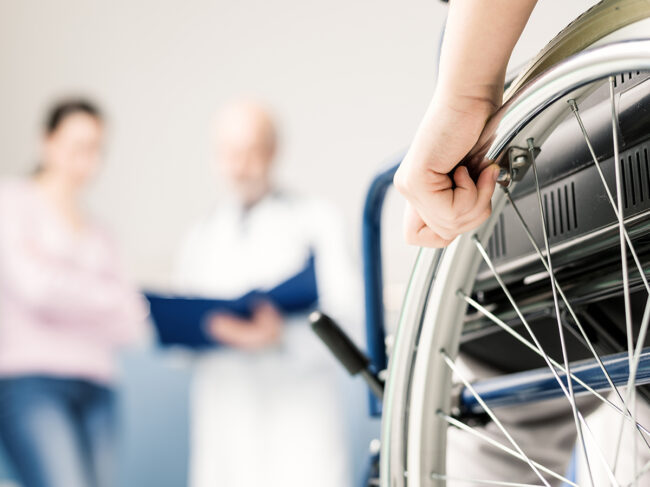
[{"label": "open dark blue folder held by the man in white", "polygon": [[151,318],[162,345],[191,348],[219,346],[206,333],[206,320],[214,313],[250,318],[260,301],[268,301],[283,314],[306,312],[318,301],[316,269],[311,255],[305,267],[267,291],[253,290],[237,299],[209,299],[145,292]]}]

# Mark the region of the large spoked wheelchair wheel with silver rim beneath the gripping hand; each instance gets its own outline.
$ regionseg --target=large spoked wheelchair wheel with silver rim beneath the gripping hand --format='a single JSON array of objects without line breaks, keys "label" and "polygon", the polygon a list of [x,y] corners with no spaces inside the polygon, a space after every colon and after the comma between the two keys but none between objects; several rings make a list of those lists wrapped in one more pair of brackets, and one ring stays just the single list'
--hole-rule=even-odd
[{"label": "large spoked wheelchair wheel with silver rim beneath the gripping hand", "polygon": [[[615,17],[606,25],[605,13]],[[636,415],[650,399],[641,373],[650,355],[650,39],[629,40],[648,35],[648,17],[648,2],[599,4],[515,81],[486,127],[472,156],[498,162],[508,185],[479,229],[418,256],[387,374],[382,486],[576,485],[502,421],[551,399],[565,401],[587,463],[611,485],[650,485],[650,464],[636,461],[650,453],[650,424]],[[472,385],[459,356],[495,377]],[[612,458],[591,445],[585,419],[601,404],[620,418]],[[486,422],[499,438],[484,433]],[[526,473],[452,477],[450,428]],[[624,440],[619,430],[629,430]],[[633,471],[617,470],[623,454],[634,455]]]}]

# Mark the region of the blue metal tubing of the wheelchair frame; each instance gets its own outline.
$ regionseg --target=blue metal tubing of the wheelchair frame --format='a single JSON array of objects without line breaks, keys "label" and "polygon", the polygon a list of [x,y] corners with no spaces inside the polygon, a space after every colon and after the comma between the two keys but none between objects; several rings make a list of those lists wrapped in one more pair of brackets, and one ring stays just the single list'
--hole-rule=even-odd
[{"label": "blue metal tubing of the wheelchair frame", "polygon": [[[401,159],[400,159],[401,162]],[[391,165],[383,170],[370,184],[363,210],[363,268],[366,310],[366,346],[372,369],[386,370],[386,329],[384,320],[383,275],[381,252],[381,214],[386,193],[399,167]],[[627,385],[629,360],[627,352],[602,357],[602,362],[617,387]],[[596,391],[606,391],[609,383],[595,359],[574,364],[571,372]],[[559,374],[566,386],[566,376]],[[645,348],[637,368],[636,384],[650,383],[650,347]],[[551,399],[564,395],[558,381],[550,370],[537,369],[481,380],[473,384],[489,407],[514,406]],[[577,394],[586,392],[580,384],[574,385]],[[480,414],[481,406],[467,389],[460,395],[461,410],[467,414]],[[381,416],[381,401],[370,393],[370,414]]]}]

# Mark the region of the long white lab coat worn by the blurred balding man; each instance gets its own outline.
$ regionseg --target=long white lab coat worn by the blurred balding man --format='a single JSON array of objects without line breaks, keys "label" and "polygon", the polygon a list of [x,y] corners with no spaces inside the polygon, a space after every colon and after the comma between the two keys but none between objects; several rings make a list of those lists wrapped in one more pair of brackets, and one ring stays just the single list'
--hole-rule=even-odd
[{"label": "long white lab coat worn by the blurred balding man", "polygon": [[[313,251],[319,307],[358,326],[359,279],[344,242],[320,202],[272,194],[246,212],[226,203],[189,233],[178,283],[235,298],[296,274]],[[204,353],[191,390],[190,486],[350,485],[337,367],[306,315],[288,319],[271,349]]]}]

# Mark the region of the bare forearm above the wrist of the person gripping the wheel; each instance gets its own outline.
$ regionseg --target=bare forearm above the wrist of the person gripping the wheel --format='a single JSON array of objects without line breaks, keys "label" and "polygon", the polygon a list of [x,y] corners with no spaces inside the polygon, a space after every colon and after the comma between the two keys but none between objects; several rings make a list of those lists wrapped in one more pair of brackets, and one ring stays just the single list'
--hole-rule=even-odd
[{"label": "bare forearm above the wrist of the person gripping the wheel", "polygon": [[536,0],[452,0],[434,104],[501,104],[506,68]]}]

